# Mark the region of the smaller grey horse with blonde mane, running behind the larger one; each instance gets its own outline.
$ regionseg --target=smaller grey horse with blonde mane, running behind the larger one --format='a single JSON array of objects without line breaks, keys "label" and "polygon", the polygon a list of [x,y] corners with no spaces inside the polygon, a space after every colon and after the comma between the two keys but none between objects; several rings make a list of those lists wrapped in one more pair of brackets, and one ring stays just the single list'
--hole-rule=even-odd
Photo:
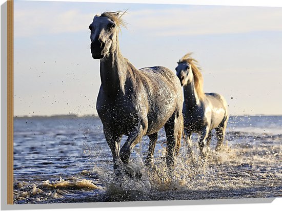
[{"label": "smaller grey horse with blonde mane, running behind the larger one", "polygon": [[220,150],[223,145],[229,117],[227,103],[224,97],[219,94],[204,93],[203,77],[196,65],[197,61],[191,57],[191,53],[183,56],[177,63],[176,75],[184,89],[185,138],[191,146],[192,133],[199,134],[199,149],[202,156],[205,157],[204,146],[209,147],[210,145],[212,129],[215,129],[218,139],[215,150]]}]

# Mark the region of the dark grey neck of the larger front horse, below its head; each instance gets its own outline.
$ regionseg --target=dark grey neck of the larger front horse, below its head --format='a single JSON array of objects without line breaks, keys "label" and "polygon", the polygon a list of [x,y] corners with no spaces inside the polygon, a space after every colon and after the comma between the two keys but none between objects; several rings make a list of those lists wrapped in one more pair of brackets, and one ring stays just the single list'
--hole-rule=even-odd
[{"label": "dark grey neck of the larger front horse, below its head", "polygon": [[100,77],[103,90],[108,95],[115,95],[119,91],[124,93],[127,62],[119,51],[118,43],[114,51],[100,60]]}]

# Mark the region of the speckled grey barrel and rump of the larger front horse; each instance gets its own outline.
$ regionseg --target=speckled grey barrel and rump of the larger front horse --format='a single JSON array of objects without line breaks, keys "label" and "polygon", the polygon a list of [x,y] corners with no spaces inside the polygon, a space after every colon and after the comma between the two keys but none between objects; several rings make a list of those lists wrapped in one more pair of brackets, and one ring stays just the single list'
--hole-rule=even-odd
[{"label": "speckled grey barrel and rump of the larger front horse", "polygon": [[148,134],[162,128],[175,111],[182,114],[182,87],[171,70],[161,66],[142,68],[134,71],[132,80],[148,105]]}]

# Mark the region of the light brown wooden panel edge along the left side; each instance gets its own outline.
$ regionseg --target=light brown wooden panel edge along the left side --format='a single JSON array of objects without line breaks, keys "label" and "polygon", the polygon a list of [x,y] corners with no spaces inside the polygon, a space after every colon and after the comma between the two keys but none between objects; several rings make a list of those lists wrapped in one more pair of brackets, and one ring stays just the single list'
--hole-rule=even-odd
[{"label": "light brown wooden panel edge along the left side", "polygon": [[7,2],[7,204],[13,204],[13,65],[14,65],[14,2],[9,0]]}]

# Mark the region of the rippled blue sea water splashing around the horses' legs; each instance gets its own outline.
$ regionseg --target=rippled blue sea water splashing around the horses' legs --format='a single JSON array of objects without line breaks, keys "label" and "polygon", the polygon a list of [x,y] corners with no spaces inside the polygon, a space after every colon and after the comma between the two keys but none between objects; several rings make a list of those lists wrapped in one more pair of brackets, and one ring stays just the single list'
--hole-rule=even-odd
[{"label": "rippled blue sea water splashing around the horses' legs", "polygon": [[193,140],[193,159],[183,144],[168,171],[161,130],[157,168],[149,171],[144,137],[129,163],[142,178],[116,177],[98,118],[15,117],[14,203],[282,197],[282,116],[230,117],[223,151],[214,152],[212,139],[206,163],[198,159],[196,135]]}]

